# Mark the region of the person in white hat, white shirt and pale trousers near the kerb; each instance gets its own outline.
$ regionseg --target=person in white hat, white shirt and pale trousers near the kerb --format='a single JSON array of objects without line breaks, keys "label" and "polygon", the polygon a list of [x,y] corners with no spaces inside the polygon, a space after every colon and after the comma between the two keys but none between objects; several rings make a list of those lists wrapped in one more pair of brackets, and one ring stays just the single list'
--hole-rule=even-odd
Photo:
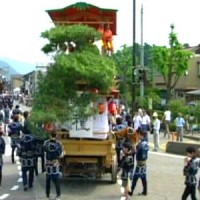
[{"label": "person in white hat, white shirt and pale trousers near the kerb", "polygon": [[160,137],[160,120],[158,119],[158,114],[156,112],[153,113],[153,143],[154,143],[154,151],[159,150],[159,137]]}]

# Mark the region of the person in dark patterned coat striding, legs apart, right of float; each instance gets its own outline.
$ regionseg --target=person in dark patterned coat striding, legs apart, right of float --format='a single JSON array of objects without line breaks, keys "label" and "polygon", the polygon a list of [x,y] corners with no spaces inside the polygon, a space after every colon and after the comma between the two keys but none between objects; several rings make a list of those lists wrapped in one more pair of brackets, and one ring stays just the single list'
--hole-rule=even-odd
[{"label": "person in dark patterned coat striding, legs apart, right of float", "polygon": [[133,175],[131,191],[128,193],[130,196],[133,195],[135,186],[139,178],[142,180],[143,191],[139,195],[147,195],[147,175],[146,175],[146,162],[148,159],[149,145],[146,141],[147,132],[141,130],[138,132],[140,142],[136,146],[136,168]]}]

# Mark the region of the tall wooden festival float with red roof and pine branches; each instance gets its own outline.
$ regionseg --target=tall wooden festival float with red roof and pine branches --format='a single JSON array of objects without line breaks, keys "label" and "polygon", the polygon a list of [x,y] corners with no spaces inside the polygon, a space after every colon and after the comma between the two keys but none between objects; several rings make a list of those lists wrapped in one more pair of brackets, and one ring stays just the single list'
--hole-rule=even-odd
[{"label": "tall wooden festival float with red roof and pine branches", "polygon": [[47,11],[55,27],[41,34],[49,41],[42,50],[54,62],[40,79],[31,117],[57,132],[63,177],[110,173],[117,181],[116,137],[108,119],[119,108],[115,64],[94,45],[102,40],[103,51],[113,52],[116,12],[83,2]]}]

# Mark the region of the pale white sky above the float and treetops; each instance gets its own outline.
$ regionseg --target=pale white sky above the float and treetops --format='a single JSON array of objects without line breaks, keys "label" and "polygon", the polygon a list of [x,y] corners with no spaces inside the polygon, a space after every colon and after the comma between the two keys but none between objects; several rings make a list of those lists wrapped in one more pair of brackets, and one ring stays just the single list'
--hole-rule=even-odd
[{"label": "pale white sky above the float and treetops", "polygon": [[[81,1],[81,0],[80,0]],[[50,57],[41,48],[46,40],[41,32],[53,27],[46,10],[64,8],[76,0],[1,0],[0,57],[33,65],[46,64]],[[82,0],[83,1],[83,0]],[[133,43],[133,0],[84,0],[101,8],[117,9],[115,49]],[[150,45],[168,45],[170,25],[175,25],[181,43],[200,44],[199,0],[135,0],[136,42],[141,41],[143,5],[143,41]]]}]

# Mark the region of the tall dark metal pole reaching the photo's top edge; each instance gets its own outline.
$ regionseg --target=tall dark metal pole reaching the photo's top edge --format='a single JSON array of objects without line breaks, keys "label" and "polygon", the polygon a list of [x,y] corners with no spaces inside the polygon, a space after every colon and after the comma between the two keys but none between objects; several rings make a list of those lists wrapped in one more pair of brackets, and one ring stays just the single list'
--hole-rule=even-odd
[{"label": "tall dark metal pole reaching the photo's top edge", "polygon": [[135,84],[135,68],[136,68],[136,46],[135,46],[135,24],[136,24],[136,3],[133,0],[133,52],[132,52],[132,116],[136,109],[135,97],[136,97],[136,84]]}]

